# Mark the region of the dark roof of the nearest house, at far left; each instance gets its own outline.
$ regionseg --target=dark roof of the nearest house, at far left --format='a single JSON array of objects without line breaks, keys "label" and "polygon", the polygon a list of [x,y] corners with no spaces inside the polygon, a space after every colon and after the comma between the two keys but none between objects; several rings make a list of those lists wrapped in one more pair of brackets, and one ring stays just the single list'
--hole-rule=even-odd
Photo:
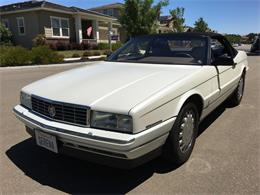
[{"label": "dark roof of the nearest house, at far left", "polygon": [[22,11],[22,10],[26,11],[28,9],[33,9],[33,8],[57,9],[57,10],[61,10],[64,12],[70,12],[72,14],[81,12],[81,13],[93,14],[93,15],[97,15],[97,16],[115,19],[112,16],[108,16],[108,15],[98,13],[95,11],[91,11],[91,10],[82,9],[79,7],[67,7],[64,5],[59,5],[59,4],[51,3],[48,1],[36,1],[36,0],[0,6],[0,12],[3,13],[3,12]]}]

